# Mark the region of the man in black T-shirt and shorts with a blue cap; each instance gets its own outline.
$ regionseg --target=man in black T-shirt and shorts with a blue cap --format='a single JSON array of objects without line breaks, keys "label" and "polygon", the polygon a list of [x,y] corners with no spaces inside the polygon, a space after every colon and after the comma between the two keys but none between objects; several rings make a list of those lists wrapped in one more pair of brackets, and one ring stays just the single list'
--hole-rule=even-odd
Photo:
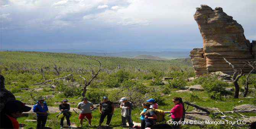
[{"label": "man in black T-shirt and shorts with a blue cap", "polygon": [[100,104],[99,110],[100,110],[100,114],[101,114],[99,125],[101,126],[102,122],[104,121],[105,117],[107,116],[106,126],[109,126],[112,115],[114,114],[114,109],[115,109],[114,103],[112,101],[109,101],[107,96],[104,96],[102,98],[102,100],[103,101],[101,101],[99,103]]}]

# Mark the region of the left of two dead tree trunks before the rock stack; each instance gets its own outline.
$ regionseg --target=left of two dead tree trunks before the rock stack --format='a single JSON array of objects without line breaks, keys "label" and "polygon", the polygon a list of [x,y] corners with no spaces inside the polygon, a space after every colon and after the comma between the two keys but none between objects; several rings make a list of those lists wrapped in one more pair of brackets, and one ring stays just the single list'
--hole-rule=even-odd
[{"label": "left of two dead tree trunks before the rock stack", "polygon": [[[233,84],[234,84],[234,86],[235,86],[235,92],[234,92],[233,98],[234,98],[234,99],[237,99],[238,96],[239,96],[239,90],[240,90],[240,87],[239,87],[237,81],[238,81],[238,79],[239,79],[241,76],[243,76],[243,70],[241,70],[241,69],[240,69],[240,70],[235,69],[235,66],[233,66],[230,62],[228,62],[225,57],[223,57],[223,58],[224,58],[224,60],[225,60],[230,66],[232,66],[232,68],[233,68],[233,70],[234,70],[233,77],[232,77],[232,81],[233,81]],[[239,74],[239,71],[241,71],[241,74]],[[238,75],[238,74],[239,74],[239,75]]]}]

